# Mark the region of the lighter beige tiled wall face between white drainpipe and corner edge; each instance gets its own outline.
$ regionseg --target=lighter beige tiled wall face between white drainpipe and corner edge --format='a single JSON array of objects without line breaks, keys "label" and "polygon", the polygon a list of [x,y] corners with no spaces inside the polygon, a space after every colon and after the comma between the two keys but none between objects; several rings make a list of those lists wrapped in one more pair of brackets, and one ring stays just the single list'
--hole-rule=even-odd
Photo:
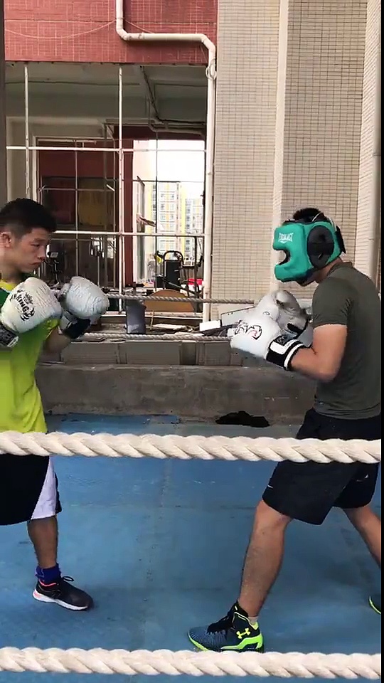
[{"label": "lighter beige tiled wall face between white drainpipe and corner edge", "polygon": [[268,287],[279,0],[220,0],[213,296]]}]

